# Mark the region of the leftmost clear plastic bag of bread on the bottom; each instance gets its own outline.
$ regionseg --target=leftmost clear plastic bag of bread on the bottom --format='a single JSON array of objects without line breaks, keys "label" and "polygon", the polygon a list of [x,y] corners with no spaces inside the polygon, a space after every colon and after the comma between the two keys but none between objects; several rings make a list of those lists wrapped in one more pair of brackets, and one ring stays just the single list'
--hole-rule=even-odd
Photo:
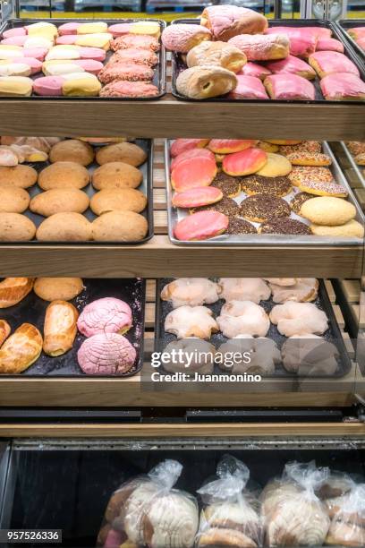
[{"label": "leftmost clear plastic bag of bread on the bottom", "polygon": [[191,548],[199,525],[198,504],[191,494],[173,489],[182,470],[179,462],[166,459],[115,491],[98,546]]}]

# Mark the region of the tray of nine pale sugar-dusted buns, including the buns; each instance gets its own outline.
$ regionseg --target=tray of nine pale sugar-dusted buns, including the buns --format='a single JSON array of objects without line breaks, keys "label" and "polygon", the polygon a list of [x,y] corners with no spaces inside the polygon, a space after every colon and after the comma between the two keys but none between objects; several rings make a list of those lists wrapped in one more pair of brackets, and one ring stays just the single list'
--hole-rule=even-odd
[{"label": "tray of nine pale sugar-dusted buns, including the buns", "polygon": [[[156,303],[155,350],[172,356],[165,372],[339,378],[351,370],[322,280],[163,278]],[[179,350],[186,355],[176,363]]]}]

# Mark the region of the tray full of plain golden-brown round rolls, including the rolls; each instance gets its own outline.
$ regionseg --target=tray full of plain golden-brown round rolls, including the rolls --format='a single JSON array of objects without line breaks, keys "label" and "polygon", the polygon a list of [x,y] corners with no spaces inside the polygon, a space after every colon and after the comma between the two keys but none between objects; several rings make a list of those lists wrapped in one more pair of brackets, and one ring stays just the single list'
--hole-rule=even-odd
[{"label": "tray full of plain golden-brown round rolls, including the rolls", "polygon": [[143,244],[152,141],[1,137],[0,243]]}]

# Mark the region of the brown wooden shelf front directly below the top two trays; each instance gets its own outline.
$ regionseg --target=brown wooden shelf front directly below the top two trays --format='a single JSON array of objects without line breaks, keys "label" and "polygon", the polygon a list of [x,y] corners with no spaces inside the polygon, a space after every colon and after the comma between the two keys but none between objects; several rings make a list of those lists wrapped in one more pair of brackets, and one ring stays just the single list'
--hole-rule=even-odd
[{"label": "brown wooden shelf front directly below the top two trays", "polygon": [[362,105],[2,99],[1,135],[365,141]]}]

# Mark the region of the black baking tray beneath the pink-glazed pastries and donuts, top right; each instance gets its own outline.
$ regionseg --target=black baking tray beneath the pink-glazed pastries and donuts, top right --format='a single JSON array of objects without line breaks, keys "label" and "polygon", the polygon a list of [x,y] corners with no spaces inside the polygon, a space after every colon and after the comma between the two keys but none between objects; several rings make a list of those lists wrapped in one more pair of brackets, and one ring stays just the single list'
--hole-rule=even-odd
[{"label": "black baking tray beneath the pink-glazed pastries and donuts, top right", "polygon": [[[173,21],[172,24],[176,23],[183,23],[183,24],[196,24],[199,25],[199,19],[176,19]],[[365,81],[365,65],[361,63],[358,56],[356,56],[352,50],[352,47],[349,46],[348,42],[344,39],[344,35],[341,33],[340,30],[338,30],[334,23],[330,21],[324,21],[320,19],[274,19],[269,21],[269,27],[320,27],[324,29],[330,29],[332,31],[332,35],[335,39],[340,40],[344,44],[344,55],[349,57],[352,60],[352,63],[356,64],[357,68],[359,69],[359,72],[361,74],[362,80]],[[322,92],[320,90],[319,86],[319,78],[316,76],[315,80],[311,80],[312,84],[315,87],[316,90],[316,98],[313,101],[310,100],[304,100],[304,99],[236,99],[236,98],[228,98],[227,96],[222,96],[218,98],[204,98],[204,99],[194,99],[185,97],[184,95],[181,95],[176,90],[176,79],[179,73],[183,71],[183,69],[187,68],[186,64],[183,63],[183,59],[179,54],[173,53],[172,54],[172,64],[173,64],[173,80],[172,80],[172,93],[175,98],[178,98],[182,101],[192,101],[192,102],[239,102],[239,103],[268,103],[268,102],[276,102],[276,103],[284,103],[284,104],[292,104],[292,103],[299,103],[299,104],[310,104],[310,105],[323,105],[328,103],[333,103],[335,105],[348,105],[349,101],[329,101],[325,99],[322,95]],[[259,64],[262,64],[265,66],[265,62],[261,61]],[[353,104],[362,104],[363,101],[350,101],[350,103]]]}]

